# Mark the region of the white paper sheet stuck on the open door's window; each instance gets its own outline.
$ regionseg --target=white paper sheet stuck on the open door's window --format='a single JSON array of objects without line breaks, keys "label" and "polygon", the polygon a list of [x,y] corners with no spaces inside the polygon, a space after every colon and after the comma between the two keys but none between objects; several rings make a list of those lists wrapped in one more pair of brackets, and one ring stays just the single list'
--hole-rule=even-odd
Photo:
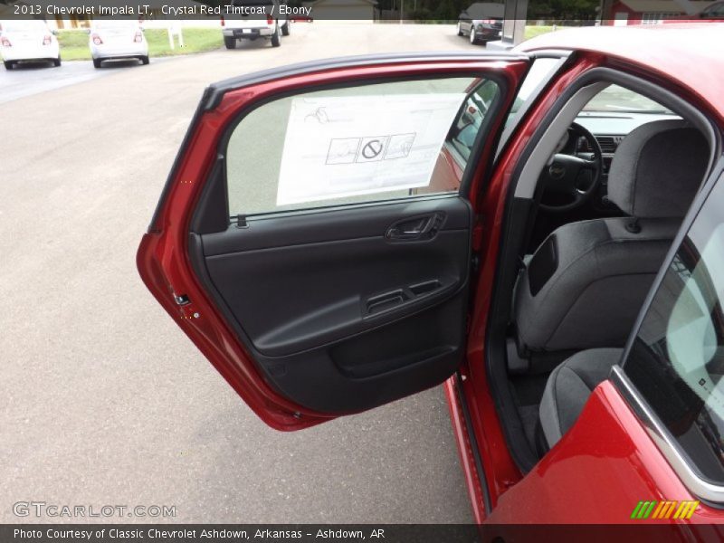
[{"label": "white paper sheet stuck on the open door's window", "polygon": [[277,205],[428,186],[463,93],[297,97]]}]

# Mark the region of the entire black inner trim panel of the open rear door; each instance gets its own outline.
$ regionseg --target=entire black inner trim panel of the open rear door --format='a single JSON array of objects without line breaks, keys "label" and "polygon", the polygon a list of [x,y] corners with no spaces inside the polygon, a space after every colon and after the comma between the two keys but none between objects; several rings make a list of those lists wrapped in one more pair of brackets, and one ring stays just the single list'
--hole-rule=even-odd
[{"label": "entire black inner trim panel of the open rear door", "polygon": [[273,386],[357,411],[460,363],[471,221],[456,196],[266,215],[192,234],[192,254]]}]

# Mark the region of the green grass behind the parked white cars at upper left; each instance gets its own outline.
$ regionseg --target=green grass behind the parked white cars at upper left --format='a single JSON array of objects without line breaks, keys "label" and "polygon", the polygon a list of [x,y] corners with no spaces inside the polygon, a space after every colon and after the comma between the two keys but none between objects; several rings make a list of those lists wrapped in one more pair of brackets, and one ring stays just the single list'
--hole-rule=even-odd
[{"label": "green grass behind the parked white cars at upper left", "polygon": [[[166,30],[149,28],[145,34],[150,57],[213,51],[224,44],[218,28],[185,28],[184,47],[179,47],[176,41],[176,49],[173,50],[168,46]],[[90,61],[88,33],[85,31],[62,30],[58,33],[58,42],[63,61]]]}]

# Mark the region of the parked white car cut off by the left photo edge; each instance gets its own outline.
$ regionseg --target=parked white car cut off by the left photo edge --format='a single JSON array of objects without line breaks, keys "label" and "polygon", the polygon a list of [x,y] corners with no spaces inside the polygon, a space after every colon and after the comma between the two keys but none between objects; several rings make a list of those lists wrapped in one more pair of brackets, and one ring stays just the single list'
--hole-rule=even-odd
[{"label": "parked white car cut off by the left photo edge", "polygon": [[58,39],[45,21],[0,21],[0,52],[5,70],[17,62],[49,61],[61,65]]}]

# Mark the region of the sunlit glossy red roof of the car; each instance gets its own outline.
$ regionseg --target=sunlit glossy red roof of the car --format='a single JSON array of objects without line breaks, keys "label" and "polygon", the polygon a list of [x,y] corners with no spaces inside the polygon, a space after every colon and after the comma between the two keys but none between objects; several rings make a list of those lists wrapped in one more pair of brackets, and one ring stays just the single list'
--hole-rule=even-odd
[{"label": "sunlit glossy red roof of the car", "polygon": [[602,52],[658,71],[710,103],[724,119],[724,23],[583,27],[547,33],[514,51]]}]

